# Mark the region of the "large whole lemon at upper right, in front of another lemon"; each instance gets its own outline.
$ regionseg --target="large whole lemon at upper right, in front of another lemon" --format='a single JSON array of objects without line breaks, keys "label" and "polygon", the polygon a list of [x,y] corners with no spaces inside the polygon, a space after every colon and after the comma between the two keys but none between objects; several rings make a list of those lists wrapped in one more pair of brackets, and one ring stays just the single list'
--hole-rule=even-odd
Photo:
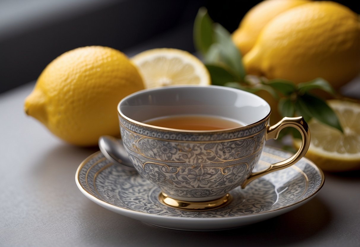
[{"label": "large whole lemon at upper right, in front of another lemon", "polygon": [[295,83],[322,77],[339,88],[360,72],[359,16],[314,1],[273,18],[243,58],[247,73]]}]

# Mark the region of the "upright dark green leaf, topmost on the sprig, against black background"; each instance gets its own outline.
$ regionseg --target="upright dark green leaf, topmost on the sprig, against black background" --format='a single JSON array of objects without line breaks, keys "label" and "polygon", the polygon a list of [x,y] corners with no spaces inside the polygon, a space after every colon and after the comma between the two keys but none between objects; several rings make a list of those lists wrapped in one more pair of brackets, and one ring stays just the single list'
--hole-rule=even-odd
[{"label": "upright dark green leaf, topmost on the sprig, against black background", "polygon": [[203,55],[207,53],[213,43],[213,21],[207,13],[207,9],[202,7],[199,9],[193,28],[193,39],[195,49]]}]

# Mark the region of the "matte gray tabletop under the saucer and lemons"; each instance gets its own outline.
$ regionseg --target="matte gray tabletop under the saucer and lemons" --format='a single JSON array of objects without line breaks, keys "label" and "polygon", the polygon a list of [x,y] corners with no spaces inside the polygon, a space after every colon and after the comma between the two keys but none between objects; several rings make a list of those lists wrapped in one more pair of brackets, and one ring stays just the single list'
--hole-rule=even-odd
[{"label": "matte gray tabletop under the saucer and lemons", "polygon": [[75,184],[97,148],[68,145],[23,112],[30,83],[0,94],[0,246],[360,246],[360,172],[325,172],[305,205],[218,232],[159,228],[108,211]]}]

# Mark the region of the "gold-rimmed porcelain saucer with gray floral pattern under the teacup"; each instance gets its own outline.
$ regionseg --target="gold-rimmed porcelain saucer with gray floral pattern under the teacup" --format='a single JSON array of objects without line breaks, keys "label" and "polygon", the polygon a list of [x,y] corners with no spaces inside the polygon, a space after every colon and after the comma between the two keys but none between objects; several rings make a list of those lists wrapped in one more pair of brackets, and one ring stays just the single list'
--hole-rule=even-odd
[{"label": "gold-rimmed porcelain saucer with gray floral pattern under the teacup", "polygon": [[[255,170],[292,154],[265,147]],[[295,165],[252,181],[245,189],[230,191],[233,200],[210,211],[183,211],[158,201],[160,189],[136,171],[108,161],[99,151],[87,157],[76,171],[76,184],[91,201],[118,214],[152,225],[192,231],[237,228],[257,223],[300,207],[321,189],[323,172],[301,158]]]}]

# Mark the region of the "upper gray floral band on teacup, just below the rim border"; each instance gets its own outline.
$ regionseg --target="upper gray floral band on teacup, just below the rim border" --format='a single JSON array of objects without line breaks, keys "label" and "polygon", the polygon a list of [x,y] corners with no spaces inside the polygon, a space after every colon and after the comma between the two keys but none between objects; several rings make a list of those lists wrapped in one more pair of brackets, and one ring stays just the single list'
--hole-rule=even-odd
[{"label": "upper gray floral band on teacup, just below the rim border", "polygon": [[132,152],[150,159],[166,162],[221,163],[237,160],[261,149],[265,129],[255,136],[217,143],[198,143],[176,140],[158,140],[121,129],[123,143]]}]

